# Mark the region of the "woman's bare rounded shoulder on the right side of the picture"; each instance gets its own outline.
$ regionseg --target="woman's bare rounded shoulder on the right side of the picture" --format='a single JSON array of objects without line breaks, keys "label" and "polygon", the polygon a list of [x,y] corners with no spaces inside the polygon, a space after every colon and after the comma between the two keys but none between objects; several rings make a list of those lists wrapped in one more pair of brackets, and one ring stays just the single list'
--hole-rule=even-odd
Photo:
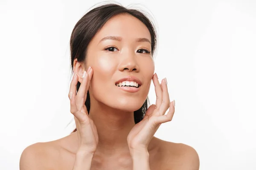
[{"label": "woman's bare rounded shoulder on the right side of the picture", "polygon": [[160,139],[158,141],[163,170],[199,170],[199,156],[193,147]]}]

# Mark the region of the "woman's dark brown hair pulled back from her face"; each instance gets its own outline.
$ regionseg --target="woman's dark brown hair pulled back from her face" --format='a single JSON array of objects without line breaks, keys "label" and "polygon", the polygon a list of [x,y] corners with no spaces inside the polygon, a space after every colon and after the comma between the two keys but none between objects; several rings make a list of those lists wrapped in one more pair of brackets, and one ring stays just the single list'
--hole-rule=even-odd
[{"label": "woman's dark brown hair pulled back from her face", "polygon": [[[145,14],[136,10],[136,9],[128,9],[118,4],[106,4],[96,8],[93,8],[89,12],[87,12],[74,27],[71,37],[70,37],[70,52],[71,52],[71,65],[73,70],[73,62],[77,58],[78,62],[85,62],[87,46],[89,42],[93,39],[95,34],[104,26],[104,24],[113,16],[117,14],[131,14],[132,16],[139,19],[145,26],[148,28],[148,31],[151,34],[151,53],[154,53],[156,48],[156,31],[153,23],[146,17]],[[77,84],[77,91],[80,87],[80,82]],[[87,99],[85,101],[85,105],[88,113],[90,112],[90,94],[87,92]],[[145,112],[148,109],[149,100],[148,98],[145,100],[142,107],[134,111],[134,122],[140,122]],[[75,132],[73,130],[73,132]]]}]

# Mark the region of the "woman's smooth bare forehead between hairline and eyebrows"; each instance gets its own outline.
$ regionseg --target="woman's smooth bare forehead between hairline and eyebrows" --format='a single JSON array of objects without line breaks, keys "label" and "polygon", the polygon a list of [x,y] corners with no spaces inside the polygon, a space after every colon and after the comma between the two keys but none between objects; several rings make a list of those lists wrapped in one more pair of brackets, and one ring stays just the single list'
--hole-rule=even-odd
[{"label": "woman's smooth bare forehead between hairline and eyebrows", "polygon": [[151,40],[148,28],[139,19],[130,14],[118,14],[111,17],[93,39],[99,41],[106,36],[120,36],[126,40],[137,38]]}]

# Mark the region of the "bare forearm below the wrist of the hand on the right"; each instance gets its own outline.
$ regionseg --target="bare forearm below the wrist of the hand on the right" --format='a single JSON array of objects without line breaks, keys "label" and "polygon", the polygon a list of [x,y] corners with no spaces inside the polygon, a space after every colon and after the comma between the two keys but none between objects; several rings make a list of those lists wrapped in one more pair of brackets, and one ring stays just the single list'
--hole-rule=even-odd
[{"label": "bare forearm below the wrist of the hand on the right", "polygon": [[148,150],[143,152],[132,152],[133,170],[150,170]]}]

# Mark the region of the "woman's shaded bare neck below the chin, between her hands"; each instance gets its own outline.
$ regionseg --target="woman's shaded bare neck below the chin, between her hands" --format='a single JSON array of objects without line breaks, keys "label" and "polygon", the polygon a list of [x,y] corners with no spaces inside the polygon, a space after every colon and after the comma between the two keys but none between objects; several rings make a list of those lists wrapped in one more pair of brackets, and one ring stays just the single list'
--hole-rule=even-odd
[{"label": "woman's shaded bare neck below the chin, between her hands", "polygon": [[89,117],[96,125],[100,153],[118,153],[128,150],[127,136],[134,127],[134,112],[109,108],[102,103],[93,103]]}]

